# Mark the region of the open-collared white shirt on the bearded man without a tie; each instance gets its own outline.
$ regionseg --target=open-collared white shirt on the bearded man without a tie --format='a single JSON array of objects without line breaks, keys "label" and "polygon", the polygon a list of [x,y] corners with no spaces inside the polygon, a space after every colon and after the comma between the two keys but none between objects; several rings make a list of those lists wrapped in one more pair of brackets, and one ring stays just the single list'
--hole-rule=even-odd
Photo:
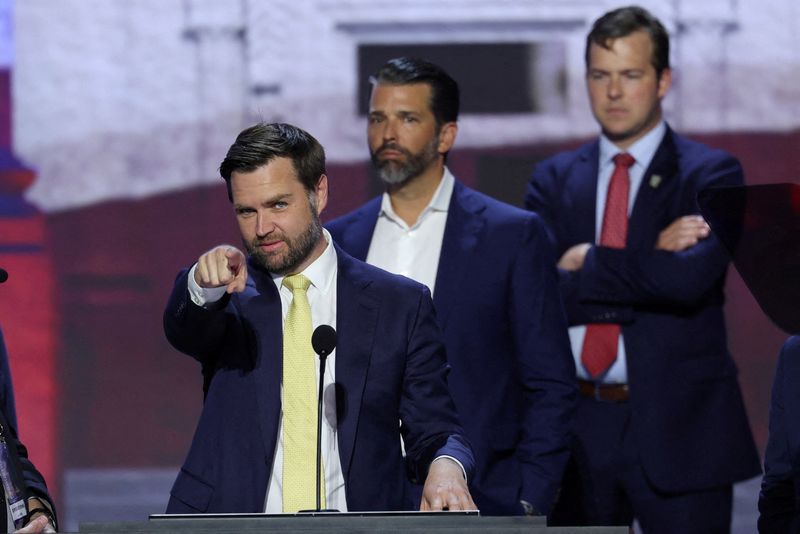
[{"label": "open-collared white shirt on the bearded man without a tie", "polygon": [[455,178],[445,167],[431,201],[410,227],[395,213],[388,193],[384,193],[367,263],[425,284],[433,294],[454,185]]}]

